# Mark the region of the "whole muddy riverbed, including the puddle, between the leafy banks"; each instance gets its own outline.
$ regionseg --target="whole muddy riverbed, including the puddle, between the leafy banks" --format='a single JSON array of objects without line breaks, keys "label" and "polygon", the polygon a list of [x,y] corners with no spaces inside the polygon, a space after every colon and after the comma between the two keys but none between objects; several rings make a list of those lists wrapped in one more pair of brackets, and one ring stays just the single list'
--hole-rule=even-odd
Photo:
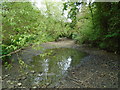
[{"label": "whole muddy riverbed, including the puddle, between the leafy banks", "polygon": [[3,88],[118,88],[119,55],[77,45],[48,42],[12,55],[2,67]]}]

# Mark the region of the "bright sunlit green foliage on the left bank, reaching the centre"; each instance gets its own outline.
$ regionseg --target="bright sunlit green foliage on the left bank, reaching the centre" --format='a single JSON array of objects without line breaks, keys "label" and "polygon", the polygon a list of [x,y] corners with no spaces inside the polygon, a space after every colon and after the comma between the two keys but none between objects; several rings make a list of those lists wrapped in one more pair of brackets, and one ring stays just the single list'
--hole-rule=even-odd
[{"label": "bright sunlit green foliage on the left bank, reaching the centre", "polygon": [[4,2],[2,4],[3,55],[33,43],[41,44],[54,41],[60,35],[69,35],[70,28],[65,26],[63,17],[60,17],[62,11],[59,12],[58,10],[52,16],[53,8],[57,6],[54,3],[49,3],[47,7],[49,10],[46,12],[47,16],[44,16],[30,2]]}]

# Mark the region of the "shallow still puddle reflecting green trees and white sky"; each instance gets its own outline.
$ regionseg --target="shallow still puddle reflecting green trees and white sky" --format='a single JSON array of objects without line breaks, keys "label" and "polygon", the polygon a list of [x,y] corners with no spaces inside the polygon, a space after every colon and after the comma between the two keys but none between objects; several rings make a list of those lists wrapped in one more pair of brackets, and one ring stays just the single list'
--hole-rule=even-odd
[{"label": "shallow still puddle reflecting green trees and white sky", "polygon": [[[75,66],[80,62],[80,59],[85,55],[74,49],[57,48],[49,49],[43,53],[33,57],[33,64],[37,72],[42,72],[41,76],[44,80],[40,82],[41,78],[36,77],[39,83],[54,82],[62,78],[69,67]],[[43,56],[43,57],[41,57]]]}]

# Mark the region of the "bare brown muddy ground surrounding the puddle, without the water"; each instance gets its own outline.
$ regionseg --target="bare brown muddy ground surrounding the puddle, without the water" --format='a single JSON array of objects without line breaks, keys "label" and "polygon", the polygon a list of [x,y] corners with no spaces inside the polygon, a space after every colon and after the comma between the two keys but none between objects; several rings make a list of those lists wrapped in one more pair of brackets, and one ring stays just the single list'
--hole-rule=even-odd
[{"label": "bare brown muddy ground surrounding the puddle, without the water", "polygon": [[[27,88],[118,88],[118,60],[120,59],[120,56],[97,48],[90,48],[86,45],[77,45],[73,40],[48,42],[35,47],[28,47],[19,53],[12,55],[12,58],[17,60],[19,57],[22,58],[25,63],[28,63],[33,56],[42,53],[42,50],[39,49],[53,48],[73,48],[80,52],[87,53],[87,56],[82,58],[80,63],[76,66],[68,69],[63,78],[56,83],[44,83],[44,85],[37,86],[30,86],[28,84],[26,86]],[[15,74],[14,71],[11,74],[6,73],[8,71],[9,70],[3,69],[3,75],[7,76],[6,78],[3,76],[3,88],[26,88],[22,85],[22,81],[24,82],[28,76],[35,77],[36,74],[38,75],[38,73],[34,74],[35,72],[31,70],[30,73],[24,74],[21,77],[23,79],[19,78],[22,80],[20,81],[17,77],[16,79],[13,77]],[[17,74],[15,76],[17,76]],[[17,86],[13,85],[14,82],[10,84],[12,80],[16,81],[15,84],[17,83]]]}]

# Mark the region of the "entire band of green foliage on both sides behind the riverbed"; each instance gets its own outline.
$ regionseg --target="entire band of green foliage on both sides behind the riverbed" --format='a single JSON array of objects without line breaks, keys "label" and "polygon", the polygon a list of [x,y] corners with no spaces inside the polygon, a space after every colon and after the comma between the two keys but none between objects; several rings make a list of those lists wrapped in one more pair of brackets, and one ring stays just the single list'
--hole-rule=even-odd
[{"label": "entire band of green foliage on both sides behind the riverbed", "polygon": [[[72,2],[73,3],[73,2]],[[95,3],[82,5],[81,12],[71,4],[68,18],[72,22],[55,19],[49,10],[45,16],[30,2],[2,4],[2,55],[30,44],[55,41],[68,37],[77,43],[87,43],[108,51],[119,52],[120,4]],[[49,8],[49,7],[48,7]],[[74,9],[73,9],[74,8]],[[64,9],[67,10],[67,7]],[[56,17],[56,16],[55,16]]]}]

